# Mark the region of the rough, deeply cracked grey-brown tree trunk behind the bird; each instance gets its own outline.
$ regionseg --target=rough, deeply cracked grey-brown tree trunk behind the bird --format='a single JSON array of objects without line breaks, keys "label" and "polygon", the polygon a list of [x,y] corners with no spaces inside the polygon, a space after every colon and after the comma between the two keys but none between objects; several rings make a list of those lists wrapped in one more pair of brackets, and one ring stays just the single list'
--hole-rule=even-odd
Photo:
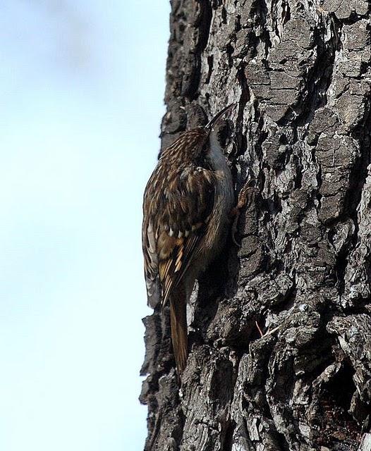
[{"label": "rough, deeply cracked grey-brown tree trunk behind the bird", "polygon": [[144,320],[145,449],[371,450],[370,4],[171,8],[162,147],[236,101],[226,154],[260,193],[193,294],[181,390]]}]

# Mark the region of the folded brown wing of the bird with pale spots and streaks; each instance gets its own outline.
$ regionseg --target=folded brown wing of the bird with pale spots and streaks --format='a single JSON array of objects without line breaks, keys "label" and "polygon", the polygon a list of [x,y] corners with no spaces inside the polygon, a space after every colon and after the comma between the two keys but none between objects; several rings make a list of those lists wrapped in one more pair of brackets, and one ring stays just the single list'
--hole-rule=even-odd
[{"label": "folded brown wing of the bird with pale spots and streaks", "polygon": [[[145,190],[142,245],[147,297],[166,304],[197,253],[214,206],[214,173],[191,166],[152,175]],[[157,180],[157,183],[155,183]],[[157,186],[156,186],[157,185]]]}]

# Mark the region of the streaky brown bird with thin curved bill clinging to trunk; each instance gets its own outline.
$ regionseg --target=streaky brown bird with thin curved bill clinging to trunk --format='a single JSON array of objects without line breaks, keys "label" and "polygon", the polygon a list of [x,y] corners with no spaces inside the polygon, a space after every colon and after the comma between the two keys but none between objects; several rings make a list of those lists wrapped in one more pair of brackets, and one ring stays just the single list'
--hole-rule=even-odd
[{"label": "streaky brown bird with thin curved bill clinging to trunk", "polygon": [[[195,280],[224,247],[231,223],[234,190],[221,147],[221,118],[182,132],[159,156],[143,197],[142,250],[147,303],[169,303],[176,370],[188,358],[186,304]],[[241,204],[241,202],[240,202]]]}]

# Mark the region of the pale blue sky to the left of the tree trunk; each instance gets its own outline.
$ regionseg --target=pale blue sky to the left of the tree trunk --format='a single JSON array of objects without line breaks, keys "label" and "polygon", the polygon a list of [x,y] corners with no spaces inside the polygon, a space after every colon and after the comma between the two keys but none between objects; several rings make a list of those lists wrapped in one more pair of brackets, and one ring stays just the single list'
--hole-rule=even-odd
[{"label": "pale blue sky to the left of the tree trunk", "polygon": [[168,1],[0,6],[0,450],[138,451]]}]

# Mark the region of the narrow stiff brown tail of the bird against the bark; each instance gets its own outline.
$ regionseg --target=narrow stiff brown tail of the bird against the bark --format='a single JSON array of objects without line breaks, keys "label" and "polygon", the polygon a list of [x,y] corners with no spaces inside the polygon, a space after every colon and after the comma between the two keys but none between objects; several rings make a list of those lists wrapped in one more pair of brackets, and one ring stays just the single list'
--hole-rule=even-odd
[{"label": "narrow stiff brown tail of the bird against the bark", "polygon": [[185,369],[188,357],[186,302],[185,290],[176,290],[176,297],[173,295],[170,299],[171,341],[179,376]]}]

